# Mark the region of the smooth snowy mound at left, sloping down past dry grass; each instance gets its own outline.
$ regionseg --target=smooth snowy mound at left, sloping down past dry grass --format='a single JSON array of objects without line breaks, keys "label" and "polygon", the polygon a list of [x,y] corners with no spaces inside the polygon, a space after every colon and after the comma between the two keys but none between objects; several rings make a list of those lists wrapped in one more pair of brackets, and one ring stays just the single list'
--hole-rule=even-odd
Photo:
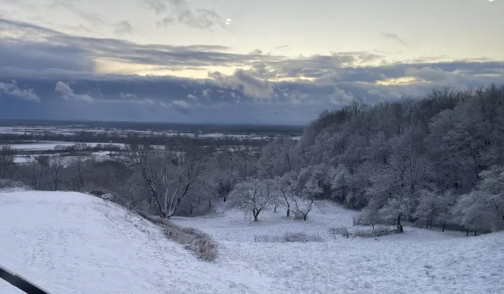
[{"label": "smooth snowy mound at left, sloping down past dry grass", "polygon": [[[197,260],[154,225],[80,193],[0,193],[0,264],[52,294],[271,293],[272,279]],[[20,293],[0,282],[0,293]]]}]

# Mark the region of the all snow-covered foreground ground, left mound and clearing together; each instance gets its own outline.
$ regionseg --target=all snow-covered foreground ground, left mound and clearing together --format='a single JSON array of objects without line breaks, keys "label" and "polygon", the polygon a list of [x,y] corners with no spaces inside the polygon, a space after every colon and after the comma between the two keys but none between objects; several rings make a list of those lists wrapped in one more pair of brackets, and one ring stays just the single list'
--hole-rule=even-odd
[{"label": "all snow-covered foreground ground, left mound and clearing together", "polygon": [[[218,241],[203,262],[160,229],[79,193],[0,193],[0,263],[56,293],[504,293],[504,234],[405,228],[375,239],[337,237],[353,211],[329,205],[308,221],[264,211],[174,218]],[[260,243],[255,235],[318,235]],[[0,282],[0,293],[19,293]]]}]

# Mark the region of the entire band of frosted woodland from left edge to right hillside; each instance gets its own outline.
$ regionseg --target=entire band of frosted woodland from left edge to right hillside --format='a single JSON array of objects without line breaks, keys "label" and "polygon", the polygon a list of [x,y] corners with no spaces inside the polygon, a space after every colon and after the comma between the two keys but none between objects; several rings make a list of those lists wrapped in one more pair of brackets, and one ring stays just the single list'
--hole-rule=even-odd
[{"label": "entire band of frosted woodland from left edge to right hillside", "polygon": [[158,139],[130,134],[113,160],[56,154],[25,165],[3,146],[0,179],[112,193],[163,218],[209,213],[220,201],[256,221],[263,209],[306,220],[314,202],[332,200],[361,210],[357,224],[504,229],[504,85],[374,105],[353,99],[321,113],[300,141],[277,137],[260,153]]}]

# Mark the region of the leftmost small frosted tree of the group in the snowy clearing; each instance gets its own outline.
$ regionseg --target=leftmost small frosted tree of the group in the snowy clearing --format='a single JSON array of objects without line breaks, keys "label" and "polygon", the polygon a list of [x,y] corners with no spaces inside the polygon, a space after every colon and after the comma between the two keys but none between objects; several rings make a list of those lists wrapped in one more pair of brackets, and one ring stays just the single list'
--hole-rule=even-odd
[{"label": "leftmost small frosted tree of the group in the snowy clearing", "polygon": [[237,183],[230,194],[233,204],[239,209],[250,211],[254,221],[258,221],[260,212],[272,204],[274,197],[274,181],[255,178]]}]

